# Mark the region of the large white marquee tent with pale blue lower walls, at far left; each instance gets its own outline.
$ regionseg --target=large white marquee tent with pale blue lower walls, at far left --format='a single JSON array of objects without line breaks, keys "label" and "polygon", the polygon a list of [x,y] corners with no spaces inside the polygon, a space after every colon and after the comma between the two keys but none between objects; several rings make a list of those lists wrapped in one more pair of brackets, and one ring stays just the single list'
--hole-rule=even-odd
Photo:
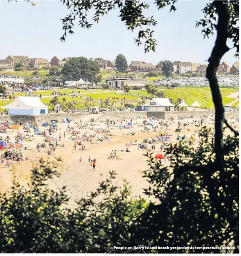
[{"label": "large white marquee tent with pale blue lower walls, at far left", "polygon": [[8,109],[9,115],[46,115],[48,107],[42,103],[39,97],[16,98],[12,103],[3,106]]}]

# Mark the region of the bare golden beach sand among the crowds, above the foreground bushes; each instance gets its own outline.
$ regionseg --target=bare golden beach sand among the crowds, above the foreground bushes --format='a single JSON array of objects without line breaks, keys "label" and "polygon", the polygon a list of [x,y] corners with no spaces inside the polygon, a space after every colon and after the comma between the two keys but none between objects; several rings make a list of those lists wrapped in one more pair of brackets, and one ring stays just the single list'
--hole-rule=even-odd
[{"label": "bare golden beach sand among the crowds, above the foreground bushes", "polygon": [[[91,114],[87,117],[84,117],[82,119],[82,123],[88,121],[92,117],[97,118],[97,116],[100,117],[100,115],[95,114]],[[128,114],[126,116],[128,116]],[[142,177],[142,172],[143,170],[149,168],[147,161],[148,158],[147,156],[144,156],[144,154],[147,151],[143,149],[138,149],[137,143],[140,143],[142,139],[147,139],[156,136],[157,134],[159,134],[160,129],[158,129],[157,132],[154,132],[152,131],[152,127],[148,126],[150,128],[149,132],[140,132],[141,130],[144,129],[144,127],[140,127],[138,125],[143,124],[144,120],[145,119],[133,119],[132,123],[137,122],[137,124],[133,124],[133,128],[131,129],[120,130],[118,129],[118,127],[115,127],[115,129],[111,129],[110,126],[110,133],[112,136],[109,136],[108,142],[98,141],[98,144],[82,142],[82,144],[84,144],[87,150],[79,150],[80,147],[77,146],[76,151],[73,151],[74,141],[70,140],[70,132],[66,132],[66,138],[63,138],[63,133],[67,128],[67,124],[59,123],[58,131],[57,133],[55,133],[55,136],[57,136],[58,139],[59,133],[61,133],[62,141],[59,143],[64,142],[66,147],[57,147],[55,156],[47,156],[46,151],[48,147],[46,149],[40,149],[40,152],[37,152],[37,143],[43,142],[44,136],[34,135],[33,138],[35,141],[25,142],[25,144],[28,145],[28,150],[22,150],[25,156],[28,157],[28,160],[21,161],[21,165],[16,165],[16,161],[14,161],[14,166],[11,168],[6,168],[3,165],[0,166],[0,192],[9,191],[12,185],[12,169],[14,169],[14,172],[18,177],[20,184],[26,186],[26,184],[29,182],[29,175],[32,165],[39,164],[40,157],[44,157],[44,159],[49,158],[50,160],[54,160],[55,157],[61,157],[63,161],[59,166],[59,172],[62,171],[62,175],[61,177],[56,177],[53,181],[50,181],[49,187],[52,189],[57,189],[58,187],[66,185],[67,195],[68,197],[70,197],[70,202],[68,205],[69,207],[74,207],[75,201],[79,201],[81,198],[86,197],[90,191],[96,190],[99,186],[99,182],[105,180],[106,176],[109,174],[109,171],[111,170],[115,170],[118,174],[117,178],[115,179],[116,184],[122,184],[123,180],[126,179],[128,182],[130,182],[130,185],[132,186],[133,195],[141,195],[141,197],[145,198],[143,189],[147,188],[149,186],[149,183]],[[129,121],[130,118],[128,119],[128,122]],[[191,123],[193,122],[192,119],[188,118],[186,120],[182,120],[181,122],[184,121]],[[74,122],[80,122],[80,120],[76,120]],[[76,126],[74,122],[71,122],[70,124],[72,127]],[[235,120],[233,120],[233,122],[235,122]],[[96,123],[98,127],[107,127],[105,123],[101,123],[99,121],[94,123]],[[118,124],[119,122],[116,121],[116,123]],[[123,124],[125,124],[125,121],[123,121]],[[213,121],[211,121],[211,119],[208,118],[208,120],[205,123],[203,123],[203,125],[213,127]],[[238,123],[236,123],[236,127],[236,129],[238,129]],[[45,129],[45,127],[39,128],[41,131]],[[176,128],[177,120],[170,125],[169,130],[163,127],[161,131],[166,130],[167,132],[171,132],[173,134],[173,136],[171,137],[171,142],[176,143]],[[188,128],[190,128],[190,132],[187,132]],[[189,138],[194,133],[195,130],[199,131],[200,127],[196,127],[193,124],[190,125],[190,127],[187,127],[187,129],[183,129],[183,131],[178,134],[185,134],[187,138]],[[80,131],[81,135],[86,131],[88,135],[94,134],[94,131],[89,129],[79,130],[79,128],[75,127],[75,130]],[[14,134],[18,132],[19,131],[8,130],[7,133],[3,134],[3,138],[5,138],[7,135],[13,138]],[[136,134],[134,136],[126,135],[128,132],[135,132]],[[195,135],[197,137],[197,133],[195,133]],[[104,135],[99,134],[99,136],[101,137]],[[134,140],[137,140],[138,142],[134,143]],[[136,145],[129,147],[131,152],[126,152],[125,144],[130,143],[131,141]],[[96,142],[96,139],[93,139],[93,142]],[[151,145],[148,145],[148,148],[151,149]],[[119,156],[118,160],[107,159],[107,155],[110,155],[111,150],[117,150],[117,155]],[[122,152],[121,150],[124,151]],[[153,152],[153,154],[156,155],[157,152],[161,152],[160,144],[156,144],[156,150]],[[80,156],[82,157],[81,163],[79,163]],[[91,157],[91,159],[96,159],[95,170],[93,170],[93,168],[89,165],[89,156]],[[169,162],[166,161],[165,165],[169,165]]]}]

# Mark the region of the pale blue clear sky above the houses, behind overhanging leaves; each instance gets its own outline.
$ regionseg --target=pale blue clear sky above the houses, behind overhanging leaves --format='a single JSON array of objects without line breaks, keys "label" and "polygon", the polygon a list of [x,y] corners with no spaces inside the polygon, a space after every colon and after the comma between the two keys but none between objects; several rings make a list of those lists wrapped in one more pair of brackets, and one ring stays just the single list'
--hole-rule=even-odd
[{"label": "pale blue clear sky above the houses, behind overhanging leaves", "polygon": [[[101,57],[114,61],[121,53],[131,61],[144,61],[157,64],[159,61],[182,61],[207,63],[215,37],[203,39],[201,28],[195,28],[196,21],[203,18],[202,8],[206,1],[178,1],[177,11],[169,12],[169,7],[158,10],[153,1],[146,15],[153,15],[158,24],[152,27],[157,39],[156,52],[144,53],[144,46],[137,47],[134,38],[138,30],[129,31],[118,17],[118,10],[111,11],[94,24],[89,30],[74,27],[74,35],[67,35],[65,42],[59,38],[63,35],[62,22],[68,13],[67,7],[60,0],[40,0],[36,6],[24,1],[2,2],[1,10],[1,47],[0,59],[8,55],[25,55],[32,58],[59,58],[84,56]],[[5,22],[3,22],[5,21]],[[91,21],[91,17],[90,17]],[[231,44],[229,44],[230,47]],[[231,66],[238,59],[234,58],[235,49],[223,56]]]}]

